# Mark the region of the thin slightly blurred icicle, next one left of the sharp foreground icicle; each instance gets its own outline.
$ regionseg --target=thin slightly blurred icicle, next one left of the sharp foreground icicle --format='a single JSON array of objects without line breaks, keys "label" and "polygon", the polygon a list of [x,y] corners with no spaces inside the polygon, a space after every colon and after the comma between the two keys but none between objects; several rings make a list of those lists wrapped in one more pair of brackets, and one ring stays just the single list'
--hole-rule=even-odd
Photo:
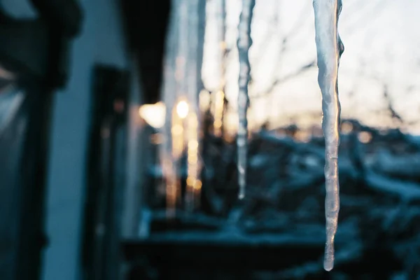
[{"label": "thin slightly blurred icicle, next one left of the sharp foreground icicle", "polygon": [[255,0],[243,0],[241,16],[238,25],[238,51],[239,51],[239,93],[238,93],[238,181],[239,181],[239,199],[245,197],[246,187],[246,155],[247,155],[247,137],[248,120],[246,120],[246,111],[248,110],[248,83],[251,78],[251,66],[249,64],[248,52],[252,45],[251,39],[251,21]]}]

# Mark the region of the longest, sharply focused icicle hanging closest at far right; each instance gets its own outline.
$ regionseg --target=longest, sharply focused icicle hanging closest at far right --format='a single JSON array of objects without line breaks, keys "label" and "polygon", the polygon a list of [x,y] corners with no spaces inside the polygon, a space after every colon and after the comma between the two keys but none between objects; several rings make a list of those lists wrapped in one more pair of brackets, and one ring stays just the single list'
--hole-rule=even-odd
[{"label": "longest, sharply focused icicle hanging closest at far right", "polygon": [[344,45],[339,38],[337,22],[342,0],[314,0],[316,49],[318,56],[318,83],[322,92],[325,137],[325,219],[326,244],[324,269],[334,267],[334,238],[339,212],[338,146],[339,114],[337,75],[339,58]]}]

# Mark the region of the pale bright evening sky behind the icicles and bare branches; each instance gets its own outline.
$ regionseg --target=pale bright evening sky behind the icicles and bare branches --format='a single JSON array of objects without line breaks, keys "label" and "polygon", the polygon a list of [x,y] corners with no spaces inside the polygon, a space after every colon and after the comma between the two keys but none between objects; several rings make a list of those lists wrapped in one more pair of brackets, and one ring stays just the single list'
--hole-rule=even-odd
[{"label": "pale bright evening sky behind the icicles and bare branches", "polygon": [[[217,90],[221,78],[218,1],[209,1],[207,7],[202,74],[208,90]],[[226,41],[232,51],[226,66],[225,94],[233,112],[241,1],[226,2]],[[339,69],[342,118],[356,118],[373,127],[398,126],[420,134],[419,10],[418,0],[343,0],[338,27],[345,47]],[[318,70],[310,67],[301,71],[316,59],[312,1],[257,0],[251,29],[251,125],[267,120],[274,127],[292,121],[302,127],[320,123]],[[275,80],[281,82],[272,87]],[[389,103],[403,123],[390,117]]]}]

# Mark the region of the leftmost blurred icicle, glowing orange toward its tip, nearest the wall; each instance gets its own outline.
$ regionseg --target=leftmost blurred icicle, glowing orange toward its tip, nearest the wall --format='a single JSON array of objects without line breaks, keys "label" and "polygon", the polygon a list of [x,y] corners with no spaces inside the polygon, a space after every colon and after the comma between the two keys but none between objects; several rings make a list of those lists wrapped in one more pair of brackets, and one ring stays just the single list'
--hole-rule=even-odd
[{"label": "leftmost blurred icicle, glowing orange toward its tip, nearest the wall", "polygon": [[[166,184],[167,212],[172,216],[181,195],[179,158],[184,148],[183,119],[186,118],[186,95],[188,92],[187,59],[189,15],[188,0],[172,0],[165,49],[162,101],[166,105],[165,125],[162,127],[163,144],[160,161]],[[187,106],[186,106],[187,105]],[[180,110],[181,109],[181,110]],[[185,116],[183,116],[185,115]]]}]

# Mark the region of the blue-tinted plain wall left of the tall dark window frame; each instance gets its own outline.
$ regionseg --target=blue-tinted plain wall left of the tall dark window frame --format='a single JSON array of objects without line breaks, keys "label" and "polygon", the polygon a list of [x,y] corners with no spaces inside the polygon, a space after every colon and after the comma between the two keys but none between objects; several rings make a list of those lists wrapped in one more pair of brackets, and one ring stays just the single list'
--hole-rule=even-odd
[{"label": "blue-tinted plain wall left of the tall dark window frame", "polygon": [[73,43],[71,77],[57,92],[48,172],[47,234],[43,279],[80,279],[80,237],[85,199],[92,66],[126,67],[117,0],[81,0],[83,34]]}]

